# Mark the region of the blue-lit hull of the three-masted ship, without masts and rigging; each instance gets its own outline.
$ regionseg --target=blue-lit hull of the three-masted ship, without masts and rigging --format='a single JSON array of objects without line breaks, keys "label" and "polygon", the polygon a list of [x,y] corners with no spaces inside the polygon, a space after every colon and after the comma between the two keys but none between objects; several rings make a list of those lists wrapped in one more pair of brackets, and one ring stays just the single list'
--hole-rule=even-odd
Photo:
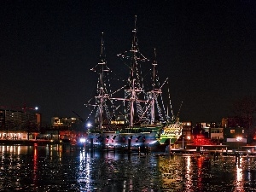
[{"label": "blue-lit hull of the three-masted ship, without masts and rigging", "polygon": [[[85,139],[85,147],[165,151],[175,143],[179,135],[165,135],[165,127],[142,126],[119,131],[93,131]],[[161,133],[162,131],[162,133]]]}]

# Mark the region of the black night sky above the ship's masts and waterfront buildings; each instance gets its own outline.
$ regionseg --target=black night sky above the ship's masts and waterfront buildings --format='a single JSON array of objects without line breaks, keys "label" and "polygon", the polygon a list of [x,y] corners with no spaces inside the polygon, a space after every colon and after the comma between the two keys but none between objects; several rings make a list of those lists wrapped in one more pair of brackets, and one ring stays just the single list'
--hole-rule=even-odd
[{"label": "black night sky above the ship's masts and waterfront buildings", "polygon": [[1,0],[0,106],[38,106],[44,122],[73,111],[86,119],[101,32],[108,67],[127,70],[117,54],[131,48],[134,15],[140,51],[151,59],[156,49],[182,121],[220,121],[256,96],[254,0]]}]

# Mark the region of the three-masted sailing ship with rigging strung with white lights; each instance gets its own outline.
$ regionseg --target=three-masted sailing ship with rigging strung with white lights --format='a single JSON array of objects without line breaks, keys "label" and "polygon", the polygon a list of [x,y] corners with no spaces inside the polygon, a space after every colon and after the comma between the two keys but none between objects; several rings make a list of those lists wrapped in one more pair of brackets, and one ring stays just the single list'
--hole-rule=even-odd
[{"label": "three-masted sailing ship with rigging strung with white lights", "polygon": [[[129,67],[129,78],[126,84],[116,91],[111,91],[109,77],[112,71],[107,66],[102,33],[101,54],[99,62],[91,71],[98,74],[95,103],[92,99],[86,103],[91,108],[90,115],[95,113],[95,123],[88,130],[88,145],[97,148],[140,148],[152,149],[173,144],[182,134],[182,123],[178,118],[168,116],[162,100],[162,87],[157,73],[156,50],[152,61],[150,89],[143,82],[142,62],[149,60],[141,54],[137,44],[137,17],[132,30],[131,49],[118,57]],[[127,64],[128,63],[128,64]],[[148,89],[148,90],[147,90]],[[124,90],[124,97],[115,94]],[[170,95],[169,95],[170,99]],[[161,102],[160,102],[161,100]],[[122,108],[122,111],[119,110]],[[167,109],[167,110],[166,110]],[[89,117],[90,117],[89,115]]]}]

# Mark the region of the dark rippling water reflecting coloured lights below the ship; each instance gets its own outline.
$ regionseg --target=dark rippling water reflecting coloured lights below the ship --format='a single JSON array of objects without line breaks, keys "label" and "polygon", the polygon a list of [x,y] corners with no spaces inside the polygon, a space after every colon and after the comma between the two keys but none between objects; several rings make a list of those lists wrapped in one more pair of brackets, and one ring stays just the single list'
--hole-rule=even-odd
[{"label": "dark rippling water reflecting coloured lights below the ship", "polygon": [[0,191],[256,191],[256,159],[0,146]]}]

